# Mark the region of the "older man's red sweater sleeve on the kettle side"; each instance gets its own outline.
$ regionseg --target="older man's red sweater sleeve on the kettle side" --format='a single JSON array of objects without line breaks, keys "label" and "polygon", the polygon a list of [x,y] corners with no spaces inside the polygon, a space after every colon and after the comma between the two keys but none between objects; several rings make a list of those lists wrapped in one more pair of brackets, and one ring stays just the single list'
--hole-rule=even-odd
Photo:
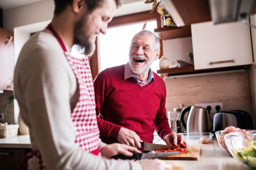
[{"label": "older man's red sweater sleeve on the kettle side", "polygon": [[154,120],[157,134],[162,139],[164,139],[164,136],[172,132],[168,124],[168,119],[166,117],[165,104],[166,104],[166,87],[165,87],[165,84],[163,84],[163,92],[161,93],[161,104],[159,106],[159,110],[157,110],[156,118]]}]

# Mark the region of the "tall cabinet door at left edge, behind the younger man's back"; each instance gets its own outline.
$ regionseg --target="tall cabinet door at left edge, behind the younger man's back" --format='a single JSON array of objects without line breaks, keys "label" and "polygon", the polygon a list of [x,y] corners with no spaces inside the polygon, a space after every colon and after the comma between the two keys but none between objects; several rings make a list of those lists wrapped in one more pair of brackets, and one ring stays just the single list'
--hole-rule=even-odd
[{"label": "tall cabinet door at left edge, behind the younger man's back", "polygon": [[10,90],[14,69],[13,31],[0,28],[0,90]]}]

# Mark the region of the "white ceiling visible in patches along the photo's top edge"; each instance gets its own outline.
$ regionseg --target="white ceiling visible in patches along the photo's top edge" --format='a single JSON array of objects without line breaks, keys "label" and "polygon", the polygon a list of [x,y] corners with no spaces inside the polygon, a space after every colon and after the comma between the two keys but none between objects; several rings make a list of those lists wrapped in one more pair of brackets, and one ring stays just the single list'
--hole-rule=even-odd
[{"label": "white ceiling visible in patches along the photo's top edge", "polygon": [[[18,6],[26,5],[26,4],[31,4],[31,3],[36,3],[38,1],[50,1],[50,0],[0,0],[0,8],[3,10],[5,9],[10,9],[10,8],[16,8]],[[53,0],[51,0],[53,1]],[[121,0],[122,4],[128,4],[128,3],[134,3],[137,1],[142,1],[142,0]]]}]

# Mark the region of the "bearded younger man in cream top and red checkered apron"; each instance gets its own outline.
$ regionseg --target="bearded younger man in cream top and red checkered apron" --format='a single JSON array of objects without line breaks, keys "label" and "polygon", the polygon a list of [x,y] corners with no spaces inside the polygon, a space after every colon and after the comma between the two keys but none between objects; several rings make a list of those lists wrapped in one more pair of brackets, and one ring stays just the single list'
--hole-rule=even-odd
[{"label": "bearded younger man in cream top and red checkered apron", "polygon": [[[54,0],[51,24],[34,34],[20,52],[14,74],[20,115],[29,127],[33,152],[28,169],[170,169],[160,160],[109,159],[136,148],[99,141],[92,74],[88,59],[70,55],[73,45],[86,55],[95,36],[106,33],[118,0]],[[26,166],[26,165],[25,165]]]}]

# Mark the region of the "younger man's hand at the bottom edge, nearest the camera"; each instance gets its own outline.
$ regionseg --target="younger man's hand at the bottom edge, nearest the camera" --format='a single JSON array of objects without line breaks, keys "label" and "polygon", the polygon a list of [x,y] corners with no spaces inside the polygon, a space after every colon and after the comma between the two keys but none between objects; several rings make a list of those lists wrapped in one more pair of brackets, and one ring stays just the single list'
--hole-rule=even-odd
[{"label": "younger man's hand at the bottom edge, nearest the camera", "polygon": [[143,169],[147,170],[172,170],[172,166],[170,164],[167,164],[163,160],[159,159],[145,159],[141,160],[139,163],[143,167]]}]

